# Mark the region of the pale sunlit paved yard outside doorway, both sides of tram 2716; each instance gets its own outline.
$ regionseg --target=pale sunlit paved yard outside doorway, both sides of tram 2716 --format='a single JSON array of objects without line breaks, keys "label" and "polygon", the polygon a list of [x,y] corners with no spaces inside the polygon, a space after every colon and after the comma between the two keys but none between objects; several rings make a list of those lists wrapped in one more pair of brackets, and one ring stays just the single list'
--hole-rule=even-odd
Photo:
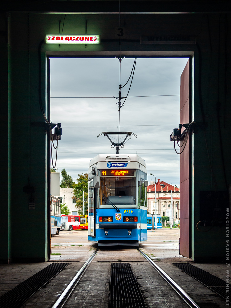
[{"label": "pale sunlit paved yard outside doorway, both sides of tram 2716", "polygon": [[[179,237],[179,229],[148,230],[148,241],[140,244],[140,249],[155,261],[191,261],[179,255]],[[83,230],[61,231],[52,237],[51,243],[52,253],[61,253],[51,255],[51,260],[55,261],[85,261],[96,248],[95,244],[88,242],[87,231]],[[125,254],[127,261],[129,256]]]}]

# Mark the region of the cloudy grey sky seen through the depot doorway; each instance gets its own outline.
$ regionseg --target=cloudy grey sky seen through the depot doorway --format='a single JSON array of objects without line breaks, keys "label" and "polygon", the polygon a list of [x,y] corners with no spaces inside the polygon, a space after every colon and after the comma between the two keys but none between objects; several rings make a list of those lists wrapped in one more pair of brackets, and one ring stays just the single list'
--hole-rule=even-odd
[{"label": "cloudy grey sky seen through the depot doorway", "polygon": [[[128,96],[174,95],[128,98],[120,111],[120,131],[137,135],[120,154],[137,153],[146,162],[148,181],[156,179],[179,186],[179,155],[174,152],[170,133],[179,124],[180,75],[186,58],[138,58]],[[121,83],[127,82],[134,59],[121,62]],[[130,79],[131,80],[131,79]],[[122,89],[127,95],[129,84]],[[56,168],[65,168],[73,180],[85,173],[91,158],[115,154],[101,132],[118,129],[119,60],[51,59],[51,120],[60,122]],[[90,98],[88,98],[90,97]],[[96,98],[100,97],[100,98]],[[106,98],[105,98],[106,97]],[[53,150],[55,156],[55,150]]]}]

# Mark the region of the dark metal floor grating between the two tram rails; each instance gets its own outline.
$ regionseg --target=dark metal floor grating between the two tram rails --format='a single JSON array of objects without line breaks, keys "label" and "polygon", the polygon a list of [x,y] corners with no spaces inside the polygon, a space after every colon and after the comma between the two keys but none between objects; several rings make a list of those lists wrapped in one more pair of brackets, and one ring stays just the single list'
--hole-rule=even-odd
[{"label": "dark metal floor grating between the two tram rails", "polygon": [[111,263],[109,308],[147,308],[130,263]]}]

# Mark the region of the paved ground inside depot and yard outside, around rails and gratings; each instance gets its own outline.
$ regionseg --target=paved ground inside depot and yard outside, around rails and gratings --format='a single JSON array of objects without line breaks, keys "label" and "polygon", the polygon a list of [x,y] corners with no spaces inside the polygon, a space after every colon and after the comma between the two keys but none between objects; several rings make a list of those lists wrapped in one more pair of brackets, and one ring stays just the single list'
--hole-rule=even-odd
[{"label": "paved ground inside depot and yard outside, around rails and gratings", "polygon": [[[140,249],[158,263],[196,302],[200,303],[201,308],[225,308],[225,300],[172,264],[172,262],[192,261],[179,256],[178,238],[179,229],[148,230],[148,242],[141,244]],[[0,265],[0,295],[13,289],[51,262],[67,261],[70,264],[21,307],[50,308],[96,247],[97,245],[88,242],[87,231],[61,231],[59,236],[52,238],[52,253],[58,254],[52,255],[49,262]],[[64,308],[108,307],[111,262],[120,261],[130,262],[148,307],[186,307],[135,248],[114,246],[100,248]],[[193,263],[193,265],[226,280],[225,264]]]}]

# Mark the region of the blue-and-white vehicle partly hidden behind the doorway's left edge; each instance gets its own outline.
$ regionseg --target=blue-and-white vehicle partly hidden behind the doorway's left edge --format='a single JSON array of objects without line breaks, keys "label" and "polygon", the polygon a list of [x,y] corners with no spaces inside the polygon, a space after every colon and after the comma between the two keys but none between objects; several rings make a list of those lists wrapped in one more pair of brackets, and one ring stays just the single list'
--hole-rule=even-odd
[{"label": "blue-and-white vehicle partly hidden behind the doorway's left edge", "polygon": [[60,200],[51,196],[51,237],[59,234],[61,227]]}]

